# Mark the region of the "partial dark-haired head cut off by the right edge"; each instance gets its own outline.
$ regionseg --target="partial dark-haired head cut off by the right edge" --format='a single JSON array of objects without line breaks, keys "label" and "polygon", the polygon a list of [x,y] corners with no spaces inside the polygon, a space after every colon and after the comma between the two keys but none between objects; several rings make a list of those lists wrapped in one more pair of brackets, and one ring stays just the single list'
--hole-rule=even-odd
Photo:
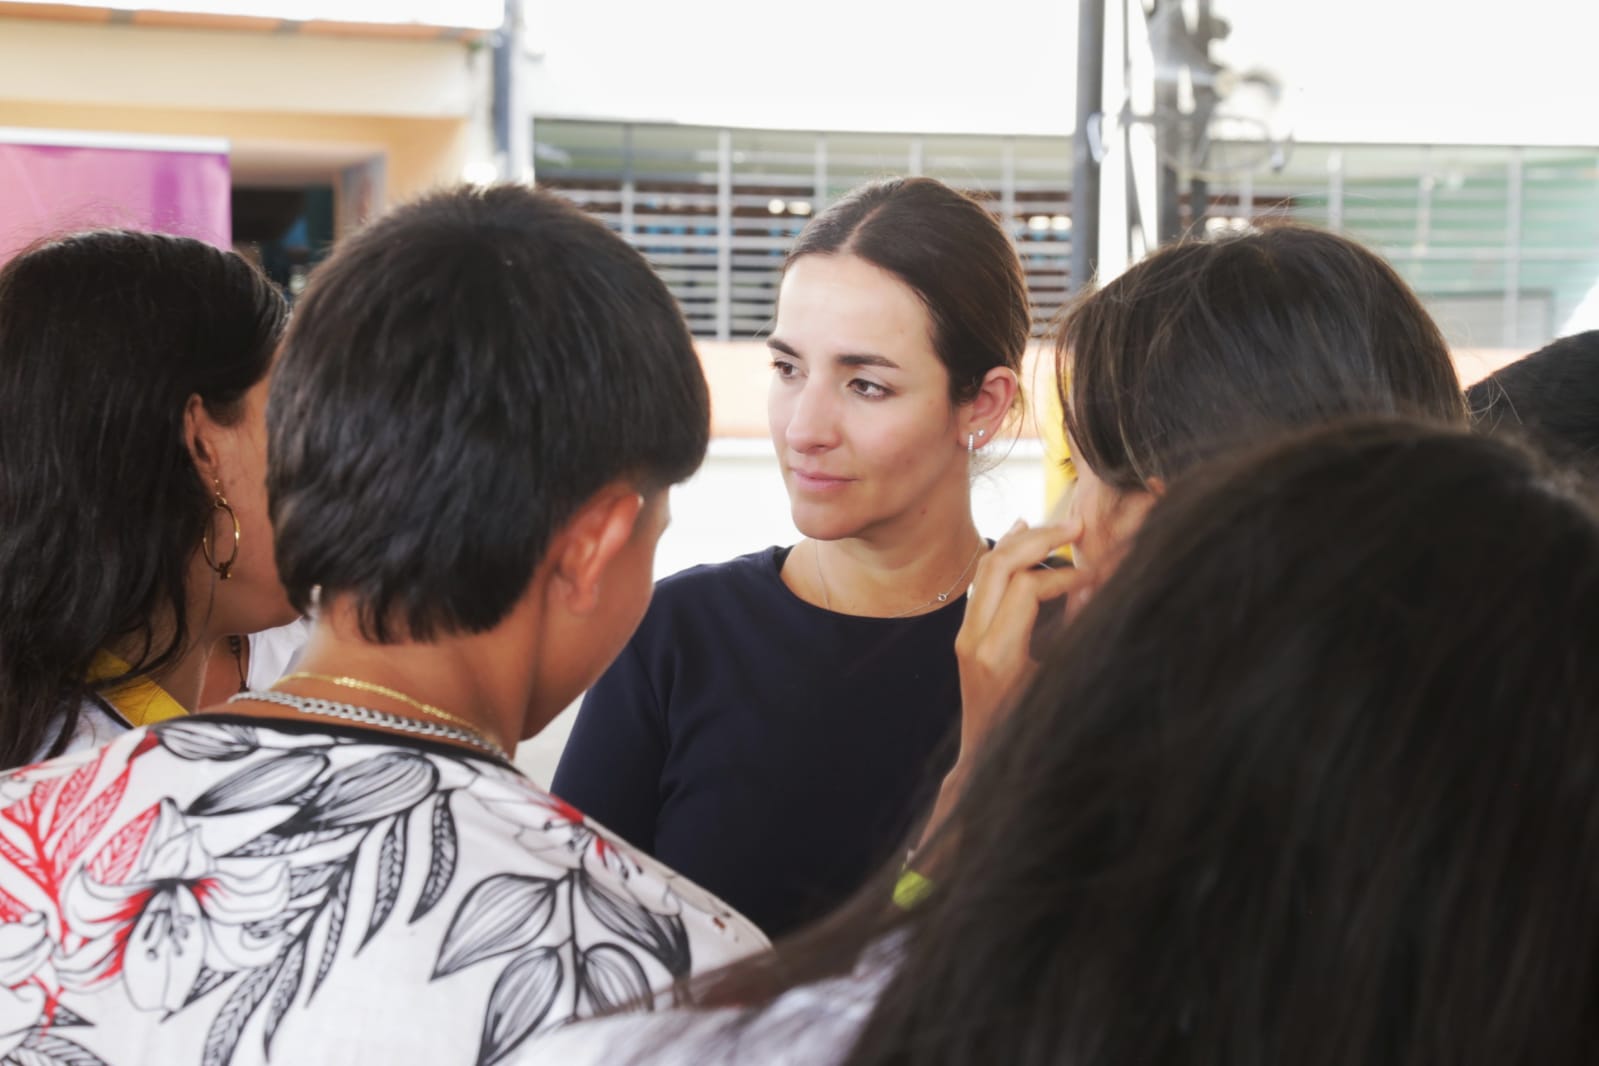
[{"label": "partial dark-haired head cut off by the right edge", "polygon": [[1525,436],[1599,473],[1599,329],[1538,348],[1466,390],[1477,428]]}]

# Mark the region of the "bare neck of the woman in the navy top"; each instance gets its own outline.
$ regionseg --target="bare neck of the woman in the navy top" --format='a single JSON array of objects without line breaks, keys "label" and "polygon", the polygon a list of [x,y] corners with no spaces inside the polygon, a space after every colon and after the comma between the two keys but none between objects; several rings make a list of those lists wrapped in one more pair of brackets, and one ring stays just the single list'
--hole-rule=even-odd
[{"label": "bare neck of the woman in the navy top", "polygon": [[926,614],[956,599],[971,583],[983,547],[964,511],[948,523],[921,523],[910,535],[812,540],[811,553],[823,606],[839,614],[895,617]]}]

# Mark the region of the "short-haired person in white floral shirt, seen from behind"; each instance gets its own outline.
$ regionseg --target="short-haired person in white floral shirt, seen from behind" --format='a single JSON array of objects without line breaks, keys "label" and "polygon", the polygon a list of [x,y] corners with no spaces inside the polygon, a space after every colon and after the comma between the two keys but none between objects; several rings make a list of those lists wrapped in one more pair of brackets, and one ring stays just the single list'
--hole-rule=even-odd
[{"label": "short-haired person in white floral shirt, seen from behind", "polygon": [[761,948],[510,764],[638,623],[705,454],[638,253],[521,187],[400,208],[312,280],[267,428],[312,639],[272,689],[0,778],[0,1053],[488,1064]]}]

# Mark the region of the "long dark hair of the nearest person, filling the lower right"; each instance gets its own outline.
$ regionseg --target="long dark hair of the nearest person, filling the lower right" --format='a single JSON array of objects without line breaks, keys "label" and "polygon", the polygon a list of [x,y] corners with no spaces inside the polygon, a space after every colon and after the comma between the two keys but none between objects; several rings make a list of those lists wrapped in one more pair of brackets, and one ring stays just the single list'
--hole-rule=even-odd
[{"label": "long dark hair of the nearest person, filling the lower right", "polygon": [[932,895],[862,895],[712,1000],[899,930],[849,1066],[1593,1061],[1573,484],[1402,422],[1178,481],[985,746]]}]

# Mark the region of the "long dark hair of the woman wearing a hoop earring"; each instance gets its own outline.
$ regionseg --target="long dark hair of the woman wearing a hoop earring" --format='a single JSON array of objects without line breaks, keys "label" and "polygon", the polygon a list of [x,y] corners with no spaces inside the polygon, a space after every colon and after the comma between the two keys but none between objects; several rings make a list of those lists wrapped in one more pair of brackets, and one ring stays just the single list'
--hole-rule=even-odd
[{"label": "long dark hair of the woman wearing a hoop earring", "polygon": [[112,641],[141,641],[131,676],[182,654],[211,511],[184,409],[237,417],[286,315],[259,270],[181,237],[75,233],[0,268],[0,764],[66,743]]}]

